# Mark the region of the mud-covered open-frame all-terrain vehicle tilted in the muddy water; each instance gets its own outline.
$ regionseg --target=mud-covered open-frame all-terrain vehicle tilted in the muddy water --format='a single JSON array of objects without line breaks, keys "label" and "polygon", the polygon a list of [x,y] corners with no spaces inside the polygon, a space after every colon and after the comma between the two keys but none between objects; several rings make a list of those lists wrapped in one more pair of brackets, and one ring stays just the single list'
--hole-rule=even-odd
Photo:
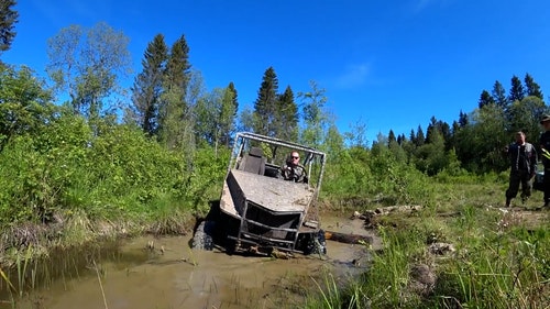
[{"label": "mud-covered open-frame all-terrain vehicle tilted in the muddy water", "polygon": [[[280,176],[287,156],[300,154],[307,181]],[[324,253],[317,197],[326,154],[293,142],[250,132],[238,133],[219,202],[196,229],[191,246],[229,254],[271,254],[273,250]]]}]

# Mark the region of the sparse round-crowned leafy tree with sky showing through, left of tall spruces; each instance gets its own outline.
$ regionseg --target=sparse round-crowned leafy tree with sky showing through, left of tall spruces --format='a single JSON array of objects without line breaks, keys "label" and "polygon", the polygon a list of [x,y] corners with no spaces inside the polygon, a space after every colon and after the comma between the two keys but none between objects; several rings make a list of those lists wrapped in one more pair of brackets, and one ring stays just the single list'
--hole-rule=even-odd
[{"label": "sparse round-crowned leafy tree with sky showing through, left of tall spruces", "polygon": [[102,100],[117,97],[119,76],[130,71],[129,42],[103,22],[88,30],[72,25],[48,40],[46,70],[68,91],[75,112],[96,119],[106,111]]}]

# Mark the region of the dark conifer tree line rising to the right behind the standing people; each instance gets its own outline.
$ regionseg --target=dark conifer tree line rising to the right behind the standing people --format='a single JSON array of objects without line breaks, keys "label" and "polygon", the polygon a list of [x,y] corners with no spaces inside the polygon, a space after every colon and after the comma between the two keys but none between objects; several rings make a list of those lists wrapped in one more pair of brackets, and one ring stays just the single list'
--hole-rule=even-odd
[{"label": "dark conifer tree line rising to the right behind the standing people", "polygon": [[[528,141],[538,144],[541,128],[539,120],[549,111],[540,86],[528,73],[524,82],[513,76],[508,95],[496,80],[490,93],[483,90],[477,108],[470,113],[460,111],[451,125],[435,117],[428,123],[426,135],[419,125],[410,135],[395,136],[391,130],[387,141],[378,142],[407,157],[417,168],[429,175],[459,164],[462,168],[477,173],[503,172],[508,162],[502,148],[514,141],[517,131],[526,133]],[[458,162],[453,162],[458,161]]]}]

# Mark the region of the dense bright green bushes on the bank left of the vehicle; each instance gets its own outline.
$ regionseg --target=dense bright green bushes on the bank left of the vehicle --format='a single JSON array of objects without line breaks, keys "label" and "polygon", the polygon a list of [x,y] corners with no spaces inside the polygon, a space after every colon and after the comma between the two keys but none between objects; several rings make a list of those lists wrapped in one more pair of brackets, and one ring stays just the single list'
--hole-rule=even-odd
[{"label": "dense bright green bushes on the bank left of the vehicle", "polygon": [[13,139],[0,153],[2,222],[48,221],[64,209],[92,218],[147,212],[151,200],[182,198],[193,185],[183,157],[139,129],[102,123],[96,136],[85,119],[61,114],[34,139]]}]

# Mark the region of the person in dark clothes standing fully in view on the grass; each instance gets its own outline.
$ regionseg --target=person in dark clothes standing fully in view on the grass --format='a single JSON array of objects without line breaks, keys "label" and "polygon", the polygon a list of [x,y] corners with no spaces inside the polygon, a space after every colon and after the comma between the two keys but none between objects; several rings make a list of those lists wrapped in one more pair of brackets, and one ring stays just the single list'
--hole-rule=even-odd
[{"label": "person in dark clothes standing fully in view on the grass", "polygon": [[537,151],[532,144],[525,141],[525,133],[521,131],[516,133],[516,142],[507,146],[505,151],[510,159],[510,179],[506,190],[506,207],[509,207],[512,199],[517,196],[520,184],[521,202],[531,196],[530,180],[537,168]]}]

